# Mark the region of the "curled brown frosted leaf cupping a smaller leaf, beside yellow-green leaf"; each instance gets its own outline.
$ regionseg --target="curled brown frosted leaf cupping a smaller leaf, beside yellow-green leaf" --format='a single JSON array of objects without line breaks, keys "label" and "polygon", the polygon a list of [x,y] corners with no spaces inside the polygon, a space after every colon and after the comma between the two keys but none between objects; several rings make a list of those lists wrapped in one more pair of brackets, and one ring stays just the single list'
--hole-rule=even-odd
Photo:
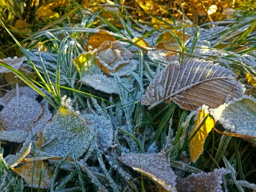
[{"label": "curled brown frosted leaf cupping a smaller leaf, beside yellow-green leaf", "polygon": [[137,69],[129,49],[116,41],[104,41],[96,51],[96,61],[102,72],[108,76],[125,76]]}]

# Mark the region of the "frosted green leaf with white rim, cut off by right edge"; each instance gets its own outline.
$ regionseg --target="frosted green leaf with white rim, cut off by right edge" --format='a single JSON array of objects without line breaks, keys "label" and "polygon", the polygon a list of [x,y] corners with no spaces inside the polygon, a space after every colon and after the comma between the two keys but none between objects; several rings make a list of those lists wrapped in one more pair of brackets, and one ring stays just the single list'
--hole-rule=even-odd
[{"label": "frosted green leaf with white rim, cut off by right edge", "polygon": [[252,96],[234,99],[209,111],[227,131],[256,137],[256,99]]}]

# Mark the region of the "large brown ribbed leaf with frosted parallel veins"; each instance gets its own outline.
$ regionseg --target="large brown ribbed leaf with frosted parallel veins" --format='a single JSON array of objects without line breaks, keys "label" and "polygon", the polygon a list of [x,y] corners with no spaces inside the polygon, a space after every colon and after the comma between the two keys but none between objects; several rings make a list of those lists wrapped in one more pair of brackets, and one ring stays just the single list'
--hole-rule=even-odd
[{"label": "large brown ribbed leaf with frosted parallel veins", "polygon": [[202,105],[218,108],[226,100],[244,94],[236,74],[218,64],[199,59],[186,59],[182,64],[169,64],[147,87],[141,104],[152,108],[163,101],[174,101],[180,108],[194,111]]}]

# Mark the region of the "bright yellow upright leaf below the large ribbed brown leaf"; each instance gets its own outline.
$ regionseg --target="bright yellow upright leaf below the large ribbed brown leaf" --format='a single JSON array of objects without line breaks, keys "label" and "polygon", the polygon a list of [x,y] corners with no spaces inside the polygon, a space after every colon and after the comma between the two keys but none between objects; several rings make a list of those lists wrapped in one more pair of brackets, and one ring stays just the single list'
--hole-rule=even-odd
[{"label": "bright yellow upright leaf below the large ribbed brown leaf", "polygon": [[[200,109],[198,111],[195,125],[193,126],[189,137],[191,137],[191,135],[196,131],[206,116],[207,113],[204,113],[204,109]],[[189,142],[190,158],[192,162],[195,162],[199,158],[200,154],[202,154],[204,150],[205,139],[214,127],[214,124],[215,120],[208,116],[207,120],[204,122],[204,125],[200,128],[197,134],[195,134],[195,137],[193,137],[193,139]]]}]

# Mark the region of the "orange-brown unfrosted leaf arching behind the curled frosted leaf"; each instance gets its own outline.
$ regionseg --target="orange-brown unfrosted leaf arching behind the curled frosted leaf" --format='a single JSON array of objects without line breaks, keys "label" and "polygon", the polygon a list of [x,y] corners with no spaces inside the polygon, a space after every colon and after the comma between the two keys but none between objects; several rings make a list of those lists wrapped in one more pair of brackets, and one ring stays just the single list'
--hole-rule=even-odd
[{"label": "orange-brown unfrosted leaf arching behind the curled frosted leaf", "polygon": [[84,49],[87,50],[89,46],[93,47],[93,49],[96,49],[104,41],[116,41],[116,39],[112,35],[110,35],[110,33],[106,32],[106,31],[100,31],[98,33],[93,34],[88,39],[87,44]]}]

